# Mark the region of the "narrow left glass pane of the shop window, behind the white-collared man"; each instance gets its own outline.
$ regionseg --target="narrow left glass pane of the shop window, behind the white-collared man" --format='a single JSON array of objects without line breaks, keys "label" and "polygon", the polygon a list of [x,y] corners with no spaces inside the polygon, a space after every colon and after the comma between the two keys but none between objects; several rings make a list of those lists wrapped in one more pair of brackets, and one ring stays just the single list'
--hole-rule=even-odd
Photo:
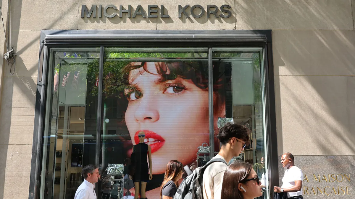
[{"label": "narrow left glass pane of the shop window, behind the white-collared man", "polygon": [[40,198],[74,198],[95,163],[99,49],[52,49]]}]

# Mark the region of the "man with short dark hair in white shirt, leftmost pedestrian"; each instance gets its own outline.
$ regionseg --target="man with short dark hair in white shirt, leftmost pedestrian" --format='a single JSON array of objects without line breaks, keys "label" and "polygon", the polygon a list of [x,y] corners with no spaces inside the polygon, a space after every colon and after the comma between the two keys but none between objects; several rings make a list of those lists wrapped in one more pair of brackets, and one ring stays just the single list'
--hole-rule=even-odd
[{"label": "man with short dark hair in white shirt, leftmost pedestrian", "polygon": [[99,167],[96,165],[86,165],[83,167],[82,174],[84,182],[76,190],[74,199],[97,199],[95,193],[95,183],[99,180]]}]

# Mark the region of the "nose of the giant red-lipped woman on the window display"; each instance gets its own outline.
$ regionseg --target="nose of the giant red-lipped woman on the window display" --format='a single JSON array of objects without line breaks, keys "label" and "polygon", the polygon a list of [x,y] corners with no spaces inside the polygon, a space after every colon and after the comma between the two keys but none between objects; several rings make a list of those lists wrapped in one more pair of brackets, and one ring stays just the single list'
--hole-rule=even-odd
[{"label": "nose of the giant red-lipped woman on the window display", "polygon": [[155,122],[159,120],[159,112],[153,99],[141,100],[135,112],[135,119],[138,122]]}]

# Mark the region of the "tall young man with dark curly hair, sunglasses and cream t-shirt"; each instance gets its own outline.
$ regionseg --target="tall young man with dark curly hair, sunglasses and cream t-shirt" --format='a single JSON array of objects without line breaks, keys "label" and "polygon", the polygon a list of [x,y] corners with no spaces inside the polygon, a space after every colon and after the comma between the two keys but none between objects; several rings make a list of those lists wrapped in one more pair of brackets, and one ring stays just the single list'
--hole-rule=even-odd
[{"label": "tall young man with dark curly hair, sunglasses and cream t-shirt", "polygon": [[203,199],[221,198],[223,174],[228,167],[227,163],[234,156],[238,156],[249,143],[249,129],[239,124],[227,123],[219,130],[218,140],[221,143],[221,149],[213,158],[221,158],[225,163],[212,163],[204,171],[202,178]]}]

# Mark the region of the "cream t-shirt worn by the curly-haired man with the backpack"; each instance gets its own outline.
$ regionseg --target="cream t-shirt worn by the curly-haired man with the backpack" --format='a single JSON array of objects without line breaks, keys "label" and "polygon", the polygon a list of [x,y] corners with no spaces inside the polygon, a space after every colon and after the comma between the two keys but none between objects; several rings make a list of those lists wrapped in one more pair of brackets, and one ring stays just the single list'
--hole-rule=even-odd
[{"label": "cream t-shirt worn by the curly-haired man with the backpack", "polygon": [[[221,158],[225,161],[225,159],[218,154],[213,158]],[[203,199],[221,198],[223,174],[227,167],[228,165],[222,162],[215,162],[209,165],[206,170],[204,170],[202,177]]]}]

